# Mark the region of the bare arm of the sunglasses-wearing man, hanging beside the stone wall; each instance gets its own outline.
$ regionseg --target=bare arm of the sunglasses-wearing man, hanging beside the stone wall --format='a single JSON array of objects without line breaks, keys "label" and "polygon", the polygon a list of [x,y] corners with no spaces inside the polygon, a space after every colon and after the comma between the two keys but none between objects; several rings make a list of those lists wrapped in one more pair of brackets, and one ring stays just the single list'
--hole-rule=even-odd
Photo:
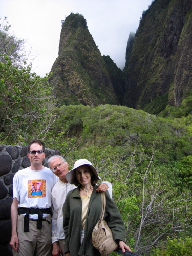
[{"label": "bare arm of the sunglasses-wearing man, hanging beside the stone wall", "polygon": [[18,217],[18,204],[19,201],[17,198],[13,198],[13,202],[11,204],[11,225],[12,225],[12,232],[11,232],[11,241],[10,245],[13,250],[18,250],[18,237],[17,237],[17,217]]}]

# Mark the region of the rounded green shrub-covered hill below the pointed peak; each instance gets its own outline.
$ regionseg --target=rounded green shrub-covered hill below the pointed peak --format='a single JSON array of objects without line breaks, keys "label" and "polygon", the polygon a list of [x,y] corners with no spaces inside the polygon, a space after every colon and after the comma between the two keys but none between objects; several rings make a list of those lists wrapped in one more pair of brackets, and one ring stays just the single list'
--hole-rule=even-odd
[{"label": "rounded green shrub-covered hill below the pointed peak", "polygon": [[168,120],[116,105],[61,106],[56,114],[55,133],[78,137],[79,149],[95,145],[124,147],[133,152],[134,148],[141,146],[150,153],[154,146],[159,163],[182,160],[192,154],[191,132],[188,129],[192,124],[190,116],[183,123],[180,119]]}]

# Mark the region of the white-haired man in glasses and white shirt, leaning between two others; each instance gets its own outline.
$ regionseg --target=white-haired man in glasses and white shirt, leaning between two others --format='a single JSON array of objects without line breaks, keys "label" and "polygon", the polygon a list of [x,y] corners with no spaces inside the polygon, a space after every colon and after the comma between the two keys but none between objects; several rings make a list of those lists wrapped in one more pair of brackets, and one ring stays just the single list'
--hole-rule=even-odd
[{"label": "white-haired man in glasses and white shirt, leaning between two others", "polygon": [[[69,172],[68,163],[65,159],[59,155],[52,156],[48,159],[48,164],[52,172],[59,177],[59,181],[55,184],[51,192],[52,200],[52,243],[53,251],[52,255],[60,256],[63,255],[64,251],[64,230],[63,230],[63,213],[62,206],[66,200],[67,193],[74,188],[75,185],[70,184],[66,180],[66,174]],[[97,191],[106,191],[112,197],[112,185],[110,182],[101,183]]]}]

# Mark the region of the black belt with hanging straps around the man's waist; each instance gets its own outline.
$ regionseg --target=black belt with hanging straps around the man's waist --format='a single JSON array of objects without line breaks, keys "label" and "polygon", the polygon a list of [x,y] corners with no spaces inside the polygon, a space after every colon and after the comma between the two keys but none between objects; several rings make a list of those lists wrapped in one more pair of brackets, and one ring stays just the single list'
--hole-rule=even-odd
[{"label": "black belt with hanging straps around the man's waist", "polygon": [[47,209],[39,209],[39,208],[24,208],[20,207],[18,208],[18,214],[26,214],[24,217],[24,232],[29,232],[29,215],[30,214],[38,214],[37,219],[37,229],[42,228],[42,221],[44,220],[43,214],[52,214],[51,208]]}]

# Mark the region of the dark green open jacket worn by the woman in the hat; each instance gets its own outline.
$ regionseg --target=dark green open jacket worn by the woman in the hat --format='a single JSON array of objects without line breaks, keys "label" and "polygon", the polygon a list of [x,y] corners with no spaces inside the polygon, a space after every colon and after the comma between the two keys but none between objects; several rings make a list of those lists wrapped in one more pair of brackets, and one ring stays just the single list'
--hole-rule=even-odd
[{"label": "dark green open jacket worn by the woman in the hat", "polygon": [[[84,240],[82,244],[80,244],[82,201],[79,196],[79,188],[75,188],[68,193],[63,205],[65,253],[69,251],[71,256],[100,255],[99,251],[95,249],[92,244],[92,231],[99,221],[102,210],[101,193],[98,193],[96,189],[97,186],[95,185],[88,206]],[[117,206],[110,198],[108,192],[106,192],[104,219],[111,228],[114,239],[124,241],[124,223]]]}]

